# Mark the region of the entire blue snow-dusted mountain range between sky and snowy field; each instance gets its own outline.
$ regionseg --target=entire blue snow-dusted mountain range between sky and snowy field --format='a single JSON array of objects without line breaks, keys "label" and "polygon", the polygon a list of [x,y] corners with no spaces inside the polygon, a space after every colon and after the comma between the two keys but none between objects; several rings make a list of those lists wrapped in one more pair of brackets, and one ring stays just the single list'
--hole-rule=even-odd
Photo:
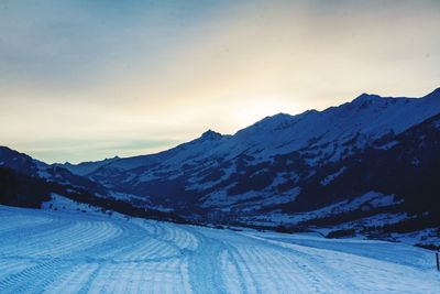
[{"label": "entire blue snow-dusted mountain range between sky and snowy field", "polygon": [[[179,221],[437,242],[440,88],[421,98],[362,94],[133,157],[46,164],[4,146],[0,166],[9,205],[37,207],[56,193]],[[30,182],[44,188],[34,195]]]}]

